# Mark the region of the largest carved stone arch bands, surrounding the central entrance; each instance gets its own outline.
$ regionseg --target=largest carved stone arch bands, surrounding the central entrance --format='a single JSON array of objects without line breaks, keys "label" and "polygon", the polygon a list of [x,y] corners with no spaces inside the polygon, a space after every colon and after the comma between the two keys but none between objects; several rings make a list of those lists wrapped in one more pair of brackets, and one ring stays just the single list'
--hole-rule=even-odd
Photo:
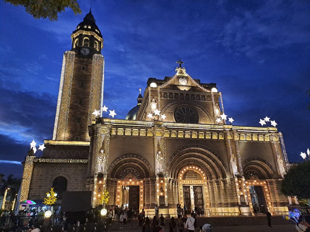
[{"label": "largest carved stone arch bands, surrounding the central entrance", "polygon": [[208,179],[230,177],[222,157],[211,148],[200,144],[188,144],[176,150],[167,162],[166,172],[171,178],[175,178],[181,166],[191,164],[193,161],[206,170]]}]

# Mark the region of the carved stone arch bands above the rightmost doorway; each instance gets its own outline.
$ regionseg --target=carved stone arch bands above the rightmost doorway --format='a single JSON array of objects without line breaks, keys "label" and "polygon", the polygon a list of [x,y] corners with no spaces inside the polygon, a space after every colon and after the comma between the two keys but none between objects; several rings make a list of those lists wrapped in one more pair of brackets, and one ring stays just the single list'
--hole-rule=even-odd
[{"label": "carved stone arch bands above the rightmost doorway", "polygon": [[276,171],[264,159],[259,157],[251,157],[242,163],[243,172],[255,171],[260,178],[271,179],[276,177]]}]

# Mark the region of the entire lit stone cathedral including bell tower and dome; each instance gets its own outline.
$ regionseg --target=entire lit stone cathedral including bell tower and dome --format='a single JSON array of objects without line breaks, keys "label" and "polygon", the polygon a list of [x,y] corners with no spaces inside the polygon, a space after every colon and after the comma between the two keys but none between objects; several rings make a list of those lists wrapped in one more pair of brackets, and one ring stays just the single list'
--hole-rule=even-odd
[{"label": "entire lit stone cathedral including bell tower and dome", "polygon": [[177,204],[238,216],[254,208],[283,214],[296,203],[280,193],[289,163],[276,127],[232,125],[216,84],[192,78],[181,60],[173,76],[147,80],[125,119],[102,117],[103,37],[91,12],[71,39],[53,139],[42,157],[29,151],[21,201],[43,199],[55,187],[59,202],[64,191],[91,191],[93,207],[107,189],[109,204],[150,216],[156,204],[172,216]]}]

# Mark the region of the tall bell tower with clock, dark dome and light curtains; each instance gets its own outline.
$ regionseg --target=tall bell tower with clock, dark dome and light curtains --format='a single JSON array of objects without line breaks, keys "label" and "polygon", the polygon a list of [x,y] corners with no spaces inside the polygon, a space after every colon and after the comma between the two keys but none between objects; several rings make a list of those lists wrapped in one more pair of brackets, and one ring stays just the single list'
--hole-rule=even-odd
[{"label": "tall bell tower with clock, dark dome and light curtains", "polygon": [[87,127],[103,101],[103,38],[91,10],[71,35],[64,53],[53,140],[89,141]]}]

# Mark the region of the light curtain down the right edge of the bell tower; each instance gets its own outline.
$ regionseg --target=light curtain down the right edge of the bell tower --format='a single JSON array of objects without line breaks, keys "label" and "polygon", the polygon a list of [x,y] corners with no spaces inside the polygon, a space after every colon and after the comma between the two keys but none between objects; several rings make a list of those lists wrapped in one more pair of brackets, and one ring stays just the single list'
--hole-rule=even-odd
[{"label": "light curtain down the right edge of the bell tower", "polygon": [[[89,108],[87,125],[91,125],[91,120],[95,119],[92,114],[94,109],[101,109],[103,102],[103,83],[104,83],[104,57],[101,54],[94,54],[91,71],[91,89],[89,94]],[[88,129],[86,128],[86,133]],[[86,136],[89,141],[89,136]]]}]

